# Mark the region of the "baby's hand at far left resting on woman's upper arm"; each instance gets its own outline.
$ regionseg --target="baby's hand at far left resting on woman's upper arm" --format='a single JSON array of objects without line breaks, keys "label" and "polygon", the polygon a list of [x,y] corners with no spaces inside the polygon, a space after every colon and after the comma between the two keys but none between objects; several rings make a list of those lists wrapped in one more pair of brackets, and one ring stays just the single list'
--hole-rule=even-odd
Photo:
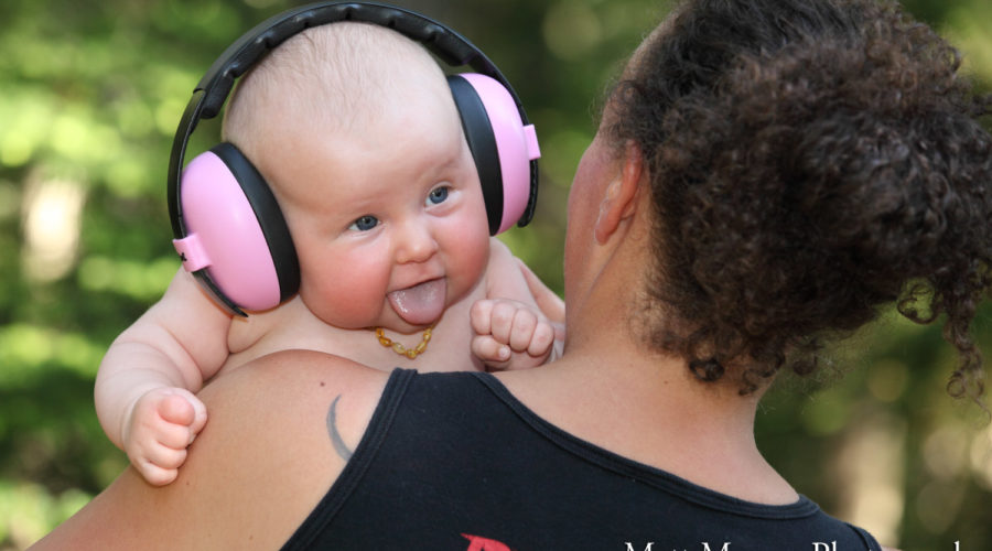
[{"label": "baby's hand at far left resting on woman's upper arm", "polygon": [[125,421],[125,452],[153,486],[179,475],[186,446],[206,424],[206,407],[182,388],[158,388],[142,395]]}]

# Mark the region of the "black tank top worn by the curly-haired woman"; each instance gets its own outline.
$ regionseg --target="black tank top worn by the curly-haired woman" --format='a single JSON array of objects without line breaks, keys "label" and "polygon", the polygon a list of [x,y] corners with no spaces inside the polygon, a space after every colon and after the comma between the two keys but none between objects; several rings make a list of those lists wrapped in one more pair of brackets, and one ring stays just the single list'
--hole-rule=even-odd
[{"label": "black tank top worn by the curly-haired woman", "polygon": [[576,439],[488,374],[397,369],[351,461],[283,549],[880,548],[806,497],[744,501]]}]

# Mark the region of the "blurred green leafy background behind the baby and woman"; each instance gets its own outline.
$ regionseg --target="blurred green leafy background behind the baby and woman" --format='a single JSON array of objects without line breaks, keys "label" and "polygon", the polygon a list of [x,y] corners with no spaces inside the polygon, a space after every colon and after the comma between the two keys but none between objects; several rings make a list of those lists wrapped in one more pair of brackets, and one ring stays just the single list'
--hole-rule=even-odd
[{"label": "blurred green leafy background behind the baby and woman", "polygon": [[[25,548],[126,466],[91,389],[110,341],[179,266],[165,206],[172,134],[226,45],[301,3],[0,2],[0,551]],[[668,2],[393,3],[459,30],[521,96],[541,138],[540,203],[535,223],[504,239],[560,291],[574,166],[604,89]],[[992,3],[905,6],[964,51],[977,86],[992,87]],[[217,136],[203,125],[194,148]],[[992,358],[988,304],[974,329]],[[938,327],[886,315],[816,378],[777,381],[758,444],[799,491],[883,543],[992,549],[992,426],[946,395],[953,361]]]}]

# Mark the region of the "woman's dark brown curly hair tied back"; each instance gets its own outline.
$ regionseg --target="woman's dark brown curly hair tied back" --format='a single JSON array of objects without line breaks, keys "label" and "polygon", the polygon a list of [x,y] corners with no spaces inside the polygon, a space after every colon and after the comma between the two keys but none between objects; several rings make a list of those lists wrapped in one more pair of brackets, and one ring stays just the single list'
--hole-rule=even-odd
[{"label": "woman's dark brown curly hair tied back", "polygon": [[650,174],[653,344],[748,393],[812,371],[824,339],[896,302],[918,323],[946,315],[948,389],[980,397],[990,101],[958,52],[888,2],[694,0],[671,17],[606,128]]}]

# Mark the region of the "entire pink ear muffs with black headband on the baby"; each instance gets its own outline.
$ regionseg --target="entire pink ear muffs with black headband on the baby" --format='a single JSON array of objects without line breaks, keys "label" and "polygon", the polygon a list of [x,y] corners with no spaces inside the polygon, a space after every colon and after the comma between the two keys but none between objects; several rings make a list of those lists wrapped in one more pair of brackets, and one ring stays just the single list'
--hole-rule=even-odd
[{"label": "entire pink ear muffs with black headband on the baby", "polygon": [[[235,79],[294,34],[336,21],[393,29],[452,66],[452,97],[483,186],[489,234],[525,226],[537,201],[540,151],[533,126],[496,66],[471,42],[419,13],[374,2],[319,2],[277,14],[241,35],[201,78],[180,120],[169,160],[169,214],[183,267],[238,315],[292,296],[300,267],[271,190],[234,145],[222,143],[183,169],[190,137],[216,117]],[[242,310],[244,309],[244,310]]]}]

